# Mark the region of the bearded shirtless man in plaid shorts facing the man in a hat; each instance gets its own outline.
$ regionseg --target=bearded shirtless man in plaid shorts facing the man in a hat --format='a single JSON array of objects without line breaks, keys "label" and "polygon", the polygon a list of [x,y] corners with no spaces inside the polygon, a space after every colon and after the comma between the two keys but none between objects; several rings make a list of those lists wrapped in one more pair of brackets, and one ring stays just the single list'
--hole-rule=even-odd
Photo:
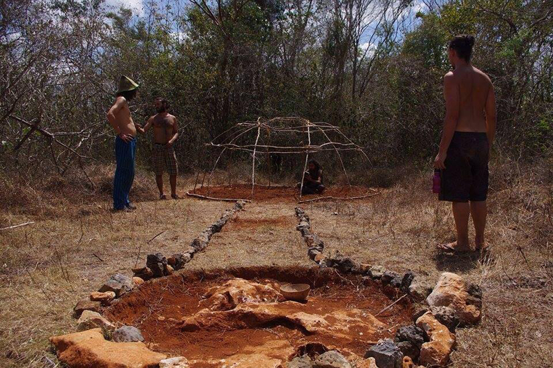
[{"label": "bearded shirtless man in plaid shorts facing the man in a hat", "polygon": [[144,129],[139,128],[140,133],[146,133],[153,126],[153,168],[156,172],[156,183],[160,191],[160,199],[167,199],[163,193],[163,168],[169,174],[171,183],[171,198],[178,199],[176,193],[178,164],[173,144],[178,138],[177,118],[167,113],[169,104],[165,98],[158,97],[154,100],[156,115],[148,119]]}]

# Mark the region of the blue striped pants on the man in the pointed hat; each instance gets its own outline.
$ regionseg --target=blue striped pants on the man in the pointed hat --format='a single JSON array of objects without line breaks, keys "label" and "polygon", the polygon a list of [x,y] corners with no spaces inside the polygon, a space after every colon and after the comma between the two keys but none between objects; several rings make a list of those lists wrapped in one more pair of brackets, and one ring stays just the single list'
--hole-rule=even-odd
[{"label": "blue striped pants on the man in the pointed hat", "polygon": [[136,138],[125,142],[119,136],[115,138],[115,160],[117,168],[113,176],[113,208],[122,210],[130,204],[129,192],[134,180],[134,157]]}]

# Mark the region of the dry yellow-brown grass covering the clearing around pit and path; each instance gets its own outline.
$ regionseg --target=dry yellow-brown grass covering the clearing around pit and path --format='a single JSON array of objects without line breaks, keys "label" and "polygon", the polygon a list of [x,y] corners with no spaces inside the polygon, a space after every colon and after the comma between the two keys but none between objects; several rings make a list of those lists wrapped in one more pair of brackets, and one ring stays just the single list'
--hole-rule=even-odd
[{"label": "dry yellow-brown grass covering the clearing around pit and path", "polygon": [[[435,244],[453,239],[453,219],[449,206],[429,193],[428,174],[410,174],[367,201],[311,203],[305,208],[328,252],[339,249],[359,261],[397,271],[413,269],[432,280],[451,270],[482,286],[482,323],[458,330],[451,367],[551,367],[553,175],[544,167],[548,166],[541,163],[518,169],[511,162],[494,166],[487,231],[494,261],[487,264],[477,257],[441,257],[435,252]],[[103,170],[91,177],[107,186],[111,172]],[[194,179],[181,181],[181,192],[193,186]],[[3,190],[14,190],[21,198],[16,201],[2,192],[2,199],[11,202],[4,204],[1,227],[37,223],[0,232],[1,367],[57,362],[47,338],[74,331],[71,310],[78,300],[109,275],[129,274],[139,247],[140,263],[154,250],[177,252],[230,206],[194,199],[147,201],[156,197],[156,190],[153,178],[144,175],[138,177],[135,190],[143,200],[137,201],[139,208],[132,214],[109,212],[109,194],[100,185],[86,195],[73,193],[70,200],[57,195],[66,193],[67,183],[59,192],[6,183]],[[247,228],[229,223],[189,267],[309,265],[294,229],[293,207],[248,204],[238,214],[240,219],[268,221]],[[284,226],[286,217],[290,226]]]}]

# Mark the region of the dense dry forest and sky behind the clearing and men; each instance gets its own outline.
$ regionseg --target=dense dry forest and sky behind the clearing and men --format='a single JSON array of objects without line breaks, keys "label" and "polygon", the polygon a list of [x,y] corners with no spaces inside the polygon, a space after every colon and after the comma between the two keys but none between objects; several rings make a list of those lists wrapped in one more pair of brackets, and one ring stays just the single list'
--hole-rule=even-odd
[{"label": "dense dry forest and sky behind the clearing and men", "polygon": [[[442,77],[451,69],[447,42],[458,34],[476,36],[474,64],[496,88],[494,154],[527,161],[551,155],[551,1],[119,5],[0,1],[5,183],[22,178],[40,185],[44,177],[73,173],[83,190],[95,190],[86,170],[113,163],[106,111],[122,74],[141,86],[131,102],[139,124],[155,113],[156,96],[171,103],[180,124],[181,172],[211,169],[216,155],[205,143],[236,123],[274,116],[339,126],[365,149],[375,171],[420,163],[429,169],[444,116]],[[139,146],[144,167],[149,145]],[[269,171],[292,172],[301,160],[287,158]],[[229,162],[236,161],[223,158],[221,168]]]}]

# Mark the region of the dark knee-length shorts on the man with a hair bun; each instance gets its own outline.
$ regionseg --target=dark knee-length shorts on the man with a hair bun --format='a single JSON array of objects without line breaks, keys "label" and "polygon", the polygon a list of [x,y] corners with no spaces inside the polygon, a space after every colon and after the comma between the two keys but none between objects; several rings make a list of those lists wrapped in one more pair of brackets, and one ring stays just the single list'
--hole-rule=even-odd
[{"label": "dark knee-length shorts on the man with a hair bun", "polygon": [[489,144],[485,133],[456,131],[442,170],[440,201],[485,201]]}]

